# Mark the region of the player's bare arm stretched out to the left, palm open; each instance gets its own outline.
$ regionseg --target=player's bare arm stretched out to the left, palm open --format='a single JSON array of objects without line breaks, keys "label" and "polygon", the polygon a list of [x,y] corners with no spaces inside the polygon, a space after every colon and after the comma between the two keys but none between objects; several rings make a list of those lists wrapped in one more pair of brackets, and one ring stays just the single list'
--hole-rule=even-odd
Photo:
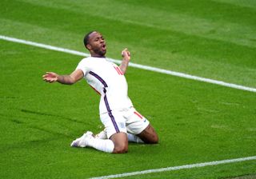
[{"label": "player's bare arm stretched out to the left, palm open", "polygon": [[46,82],[59,82],[65,85],[72,85],[82,78],[82,70],[74,70],[74,72],[69,75],[59,75],[54,72],[46,72],[46,74],[42,75],[42,79]]}]

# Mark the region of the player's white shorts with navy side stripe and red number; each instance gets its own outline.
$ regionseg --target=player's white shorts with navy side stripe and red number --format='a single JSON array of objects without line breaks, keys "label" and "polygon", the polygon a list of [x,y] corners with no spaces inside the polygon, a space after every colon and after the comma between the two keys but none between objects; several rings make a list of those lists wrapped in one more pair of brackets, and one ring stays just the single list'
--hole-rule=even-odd
[{"label": "player's white shorts with navy side stripe and red number", "polygon": [[120,132],[133,134],[142,133],[150,124],[134,107],[112,110],[110,113],[102,113],[100,117],[102,124],[105,126],[108,138],[114,133]]}]

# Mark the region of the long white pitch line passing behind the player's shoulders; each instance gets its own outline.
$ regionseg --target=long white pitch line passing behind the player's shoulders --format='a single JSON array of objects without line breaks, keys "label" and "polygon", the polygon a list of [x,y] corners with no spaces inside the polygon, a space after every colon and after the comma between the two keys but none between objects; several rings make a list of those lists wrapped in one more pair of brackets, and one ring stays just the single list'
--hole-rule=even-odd
[{"label": "long white pitch line passing behind the player's shoulders", "polygon": [[[26,44],[26,45],[29,45],[29,46],[37,46],[37,47],[47,49],[47,50],[55,50],[55,51],[64,52],[64,53],[67,53],[67,54],[79,55],[79,56],[82,56],[82,57],[89,57],[90,56],[90,54],[86,54],[86,53],[79,52],[79,51],[76,51],[76,50],[64,49],[64,48],[57,47],[57,46],[50,46],[50,45],[46,45],[46,44],[42,44],[42,43],[38,43],[38,42],[26,41],[26,40],[22,40],[22,39],[18,39],[18,38],[10,38],[10,37],[3,36],[3,35],[0,35],[0,39],[5,40],[5,41],[9,41],[9,42],[22,43],[22,44]],[[121,61],[119,61],[119,60],[115,60],[115,59],[112,59],[112,58],[108,58],[108,59],[111,62],[115,62],[115,63],[118,63],[118,64],[121,63]],[[237,89],[237,90],[246,90],[246,91],[256,93],[256,88],[252,88],[252,87],[248,87],[248,86],[240,86],[240,85],[236,85],[236,84],[233,84],[233,83],[213,80],[213,79],[210,79],[210,78],[202,78],[202,77],[198,77],[198,76],[194,76],[194,75],[190,75],[190,74],[183,74],[183,73],[175,72],[175,71],[171,71],[171,70],[163,70],[163,69],[155,68],[155,67],[152,67],[152,66],[143,66],[143,65],[136,64],[136,63],[133,63],[133,62],[130,62],[129,66],[132,66],[132,67],[138,68],[138,69],[142,69],[142,70],[154,71],[154,72],[158,72],[158,73],[161,73],[161,74],[169,74],[169,75],[172,75],[172,76],[177,76],[177,77],[181,77],[181,78],[188,78],[188,79],[192,79],[192,80],[199,81],[199,82],[207,82],[207,83],[212,83],[212,84],[215,84],[215,85],[218,85],[218,86],[226,86],[226,87],[234,88],[234,89]]]}]

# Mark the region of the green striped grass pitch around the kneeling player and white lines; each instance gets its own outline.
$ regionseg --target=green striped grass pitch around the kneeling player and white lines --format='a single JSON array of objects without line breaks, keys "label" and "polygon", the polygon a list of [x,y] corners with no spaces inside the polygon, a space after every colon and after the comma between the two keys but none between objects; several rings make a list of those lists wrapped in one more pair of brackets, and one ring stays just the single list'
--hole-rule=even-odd
[{"label": "green striped grass pitch around the kneeling player and white lines", "polygon": [[[132,62],[255,88],[253,0],[2,0],[0,35],[86,50],[99,30],[107,56],[128,48]],[[134,106],[160,137],[114,155],[70,148],[84,131],[102,129],[98,95],[78,82],[47,84],[81,57],[0,40],[0,178],[89,178],[256,156],[256,93],[130,67]],[[126,178],[256,176],[256,161]]]}]

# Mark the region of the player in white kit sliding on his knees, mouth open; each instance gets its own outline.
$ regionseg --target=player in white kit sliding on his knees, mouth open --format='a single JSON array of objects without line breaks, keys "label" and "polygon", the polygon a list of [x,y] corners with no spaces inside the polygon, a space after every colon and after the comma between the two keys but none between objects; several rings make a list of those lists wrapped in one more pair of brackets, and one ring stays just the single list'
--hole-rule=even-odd
[{"label": "player in white kit sliding on his knees, mouth open", "polygon": [[128,141],[158,143],[158,134],[150,122],[134,109],[128,97],[124,74],[130,62],[130,52],[122,50],[122,63],[117,66],[105,57],[106,42],[102,34],[92,31],[86,34],[84,45],[90,57],[83,58],[69,75],[46,72],[46,82],[72,85],[82,78],[101,95],[100,119],[105,129],[95,135],[88,131],[71,143],[73,147],[90,146],[107,153],[126,153]]}]

